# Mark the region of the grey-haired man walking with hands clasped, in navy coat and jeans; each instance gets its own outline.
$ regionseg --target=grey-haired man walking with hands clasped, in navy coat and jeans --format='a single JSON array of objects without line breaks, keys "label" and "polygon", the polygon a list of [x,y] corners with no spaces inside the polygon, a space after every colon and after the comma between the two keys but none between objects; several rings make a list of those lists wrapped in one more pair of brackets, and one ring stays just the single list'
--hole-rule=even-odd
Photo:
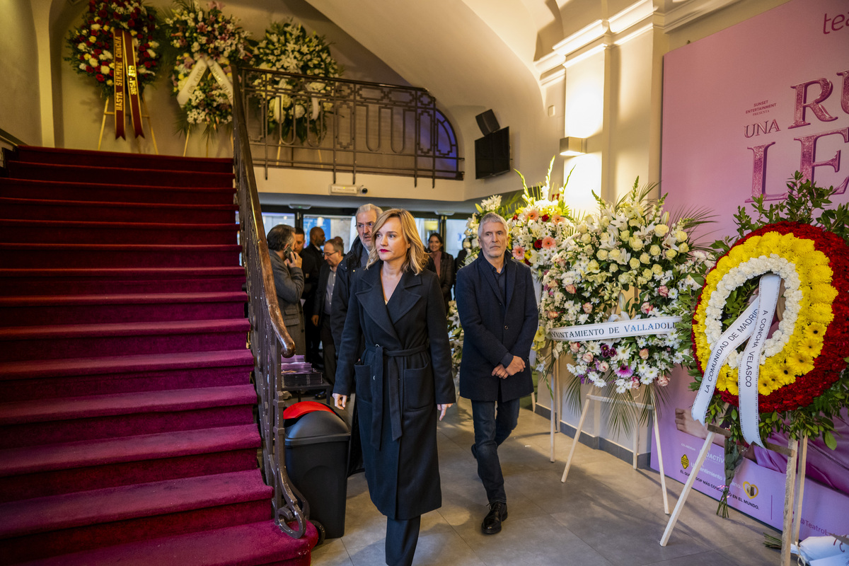
[{"label": "grey-haired man walking with hands clasped, in navy coat and jeans", "polygon": [[486,535],[500,532],[507,518],[498,446],[516,427],[520,398],[533,393],[528,356],[539,324],[531,270],[505,257],[508,233],[501,216],[484,215],[478,227],[481,255],[457,273],[464,330],[460,395],[472,401],[472,454],[490,506],[481,524]]}]

